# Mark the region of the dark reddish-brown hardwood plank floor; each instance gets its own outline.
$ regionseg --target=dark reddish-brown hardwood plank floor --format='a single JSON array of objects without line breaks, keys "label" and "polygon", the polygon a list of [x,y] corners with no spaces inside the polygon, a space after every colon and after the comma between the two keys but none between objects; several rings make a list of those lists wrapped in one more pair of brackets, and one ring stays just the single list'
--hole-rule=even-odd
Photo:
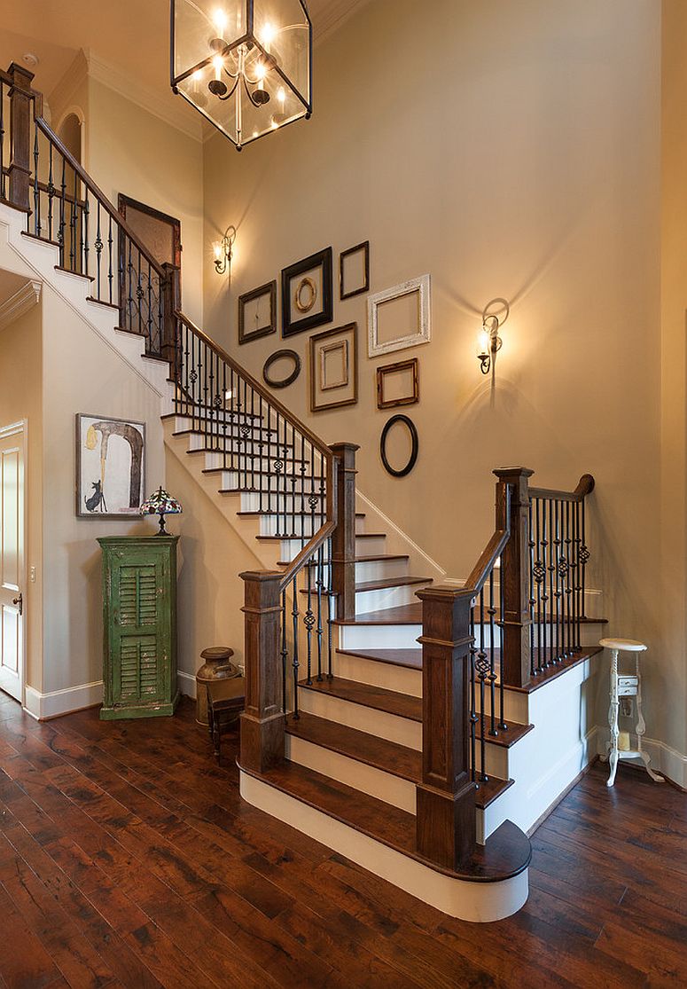
[{"label": "dark reddish-brown hardwood plank floor", "polygon": [[38,724],[0,693],[0,986],[684,986],[687,796],[597,765],[530,898],[454,921],[243,804],[174,718]]}]

